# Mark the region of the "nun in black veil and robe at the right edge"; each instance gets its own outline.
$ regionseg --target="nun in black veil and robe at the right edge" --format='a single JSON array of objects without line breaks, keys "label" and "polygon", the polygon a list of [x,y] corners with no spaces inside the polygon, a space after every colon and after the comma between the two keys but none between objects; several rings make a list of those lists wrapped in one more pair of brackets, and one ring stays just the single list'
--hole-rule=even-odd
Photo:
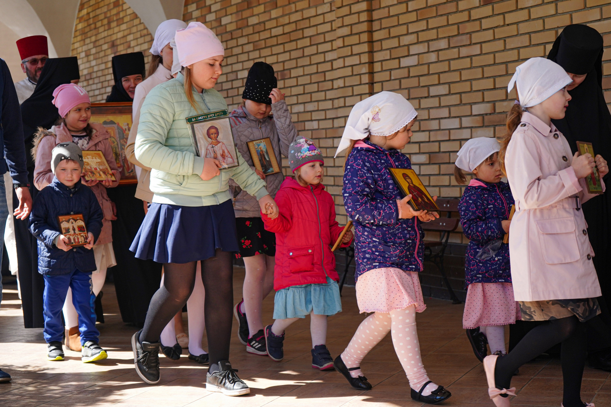
[{"label": "nun in black veil and robe at the right edge", "polygon": [[[573,153],[577,141],[591,142],[594,153],[611,158],[611,114],[602,93],[602,36],[593,28],[571,24],[552,46],[547,59],[563,67],[573,79],[566,89],[572,99],[564,119],[553,120],[564,134]],[[593,257],[602,297],[598,298],[601,314],[588,321],[588,365],[611,370],[611,176],[604,178],[604,194],[582,206],[588,222],[588,235],[595,252]]]}]

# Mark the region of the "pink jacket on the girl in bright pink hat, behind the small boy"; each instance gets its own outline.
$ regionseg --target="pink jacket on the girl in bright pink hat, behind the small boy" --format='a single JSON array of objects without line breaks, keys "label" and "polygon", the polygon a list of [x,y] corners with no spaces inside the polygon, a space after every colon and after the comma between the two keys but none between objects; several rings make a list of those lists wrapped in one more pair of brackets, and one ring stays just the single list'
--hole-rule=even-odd
[{"label": "pink jacket on the girl in bright pink hat, behind the small boy", "polygon": [[[117,167],[117,161],[115,161],[114,154],[112,153],[112,147],[108,138],[110,134],[106,128],[99,123],[91,123],[93,127],[93,134],[87,145],[86,150],[98,150],[104,153],[108,165],[112,169],[112,174],[115,175],[117,180],[112,183],[111,188],[119,185],[119,179],[121,174],[119,173],[119,167]],[[34,148],[32,149],[32,156],[36,166],[34,168],[34,186],[40,191],[45,186],[49,185],[53,181],[53,172],[51,171],[51,151],[53,148],[63,142],[72,141],[70,131],[65,127],[64,124],[59,126],[53,126],[50,130],[40,130],[34,138]],[[84,178],[81,178],[84,181]],[[97,183],[96,185],[90,186],[95,197],[97,197],[100,207],[104,213],[104,219],[102,220],[102,232],[100,237],[95,244],[105,244],[112,241],[112,205],[111,200],[106,194],[106,187]]]}]

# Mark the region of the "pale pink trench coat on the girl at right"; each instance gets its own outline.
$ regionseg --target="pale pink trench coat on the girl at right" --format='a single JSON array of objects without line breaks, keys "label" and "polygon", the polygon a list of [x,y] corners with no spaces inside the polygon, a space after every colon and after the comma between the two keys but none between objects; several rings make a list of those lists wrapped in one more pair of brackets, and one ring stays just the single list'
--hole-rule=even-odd
[{"label": "pale pink trench coat on the girl at right", "polygon": [[516,200],[509,230],[516,301],[601,295],[588,226],[577,210],[595,195],[587,193],[584,179],[577,180],[572,161],[568,142],[553,124],[522,114],[505,156]]}]

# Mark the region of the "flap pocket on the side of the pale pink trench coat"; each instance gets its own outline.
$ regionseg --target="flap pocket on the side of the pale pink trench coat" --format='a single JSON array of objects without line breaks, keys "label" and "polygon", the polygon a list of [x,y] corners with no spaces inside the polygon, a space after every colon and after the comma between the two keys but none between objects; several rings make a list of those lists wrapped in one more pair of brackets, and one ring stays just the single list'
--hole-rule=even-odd
[{"label": "flap pocket on the side of the pale pink trench coat", "polygon": [[536,221],[543,259],[547,264],[573,263],[579,260],[579,245],[573,217]]}]

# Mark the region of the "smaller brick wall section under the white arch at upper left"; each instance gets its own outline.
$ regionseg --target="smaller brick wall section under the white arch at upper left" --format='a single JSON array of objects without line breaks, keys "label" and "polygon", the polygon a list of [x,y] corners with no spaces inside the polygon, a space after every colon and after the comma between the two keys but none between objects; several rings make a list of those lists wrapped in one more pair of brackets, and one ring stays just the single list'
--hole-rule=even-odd
[{"label": "smaller brick wall section under the white arch at upper left", "polygon": [[77,56],[81,86],[92,101],[101,102],[111,92],[111,57],[142,51],[145,61],[153,37],[123,0],[83,0],[76,16],[72,55]]}]

